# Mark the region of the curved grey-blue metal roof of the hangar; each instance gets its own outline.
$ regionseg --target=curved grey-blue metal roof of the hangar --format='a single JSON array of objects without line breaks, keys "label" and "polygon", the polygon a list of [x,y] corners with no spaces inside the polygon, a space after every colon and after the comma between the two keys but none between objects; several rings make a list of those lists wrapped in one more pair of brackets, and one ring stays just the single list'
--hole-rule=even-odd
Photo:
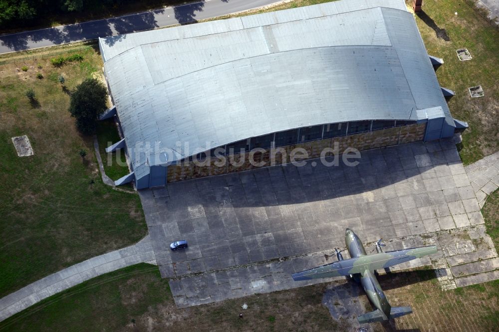
[{"label": "curved grey-blue metal roof of the hangar", "polygon": [[134,168],[147,163],[134,153],[140,142],[181,159],[177,142],[199,152],[304,126],[417,120],[416,110],[436,106],[452,121],[403,0],[342,0],[99,43]]}]

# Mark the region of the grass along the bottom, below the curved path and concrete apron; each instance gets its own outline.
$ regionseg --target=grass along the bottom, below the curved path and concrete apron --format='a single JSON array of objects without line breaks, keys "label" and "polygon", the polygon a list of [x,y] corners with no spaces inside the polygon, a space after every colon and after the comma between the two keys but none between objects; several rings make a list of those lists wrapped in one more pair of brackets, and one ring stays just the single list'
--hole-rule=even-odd
[{"label": "grass along the bottom, below the curved path and concrete apron", "polygon": [[[433,270],[393,273],[379,281],[392,305],[410,305],[414,313],[395,323],[374,324],[374,331],[493,331],[497,327],[498,281],[448,292],[440,290]],[[158,268],[139,264],[45,299],[1,322],[0,331],[164,331],[172,327],[179,331],[193,327],[197,331],[352,331],[350,323],[333,320],[322,305],[326,288],[345,282],[178,309]],[[361,294],[360,303],[367,303]],[[244,303],[248,309],[243,311]],[[371,310],[369,305],[366,310]]]}]

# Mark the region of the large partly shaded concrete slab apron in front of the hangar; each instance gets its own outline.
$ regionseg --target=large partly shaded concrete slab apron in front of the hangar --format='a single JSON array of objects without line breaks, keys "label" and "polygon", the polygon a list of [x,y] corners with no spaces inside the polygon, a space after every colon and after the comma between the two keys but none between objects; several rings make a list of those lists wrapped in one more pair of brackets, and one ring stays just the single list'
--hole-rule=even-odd
[{"label": "large partly shaded concrete slab apron in front of the hangar", "polygon": [[[366,242],[409,239],[393,249],[422,245],[434,232],[481,227],[472,184],[455,145],[441,141],[364,152],[356,167],[274,166],[170,183],[161,194],[141,192],[141,198],[153,200],[144,206],[150,232],[159,230],[151,236],[154,248],[180,238],[191,243],[184,253],[157,255],[163,277],[235,273],[229,282],[209,279],[213,285],[206,283],[208,290],[201,293],[174,294],[179,306],[191,306],[305,285],[290,274],[325,264],[324,257],[344,245],[346,227]],[[470,244],[451,243],[440,258],[478,250]],[[427,258],[397,268],[431,263]],[[448,262],[442,264],[441,279],[455,288]],[[267,265],[273,272],[254,270]],[[182,292],[190,296],[183,298]]]}]

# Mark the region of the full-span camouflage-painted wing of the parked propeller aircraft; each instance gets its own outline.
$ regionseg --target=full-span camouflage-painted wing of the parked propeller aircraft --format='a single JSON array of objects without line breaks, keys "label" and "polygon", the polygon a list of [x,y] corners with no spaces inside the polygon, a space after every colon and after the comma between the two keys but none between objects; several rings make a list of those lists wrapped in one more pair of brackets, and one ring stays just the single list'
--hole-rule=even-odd
[{"label": "full-span camouflage-painted wing of the parked propeller aircraft", "polygon": [[387,268],[416,258],[432,255],[436,252],[437,246],[380,252],[322,265],[313,269],[294,273],[291,276],[294,281],[348,276],[363,273],[366,269],[374,271]]}]

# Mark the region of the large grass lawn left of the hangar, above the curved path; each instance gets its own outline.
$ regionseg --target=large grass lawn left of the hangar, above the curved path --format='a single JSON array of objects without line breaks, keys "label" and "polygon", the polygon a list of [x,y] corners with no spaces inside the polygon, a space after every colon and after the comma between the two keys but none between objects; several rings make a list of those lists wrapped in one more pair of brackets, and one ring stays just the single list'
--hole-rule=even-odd
[{"label": "large grass lawn left of the hangar, above the curved path", "polygon": [[[82,62],[50,64],[58,53],[75,52]],[[139,197],[102,183],[93,140],[76,131],[67,111],[69,91],[101,68],[95,45],[81,43],[0,56],[0,298],[146,234]],[[10,138],[21,135],[33,156],[17,157]]]}]

